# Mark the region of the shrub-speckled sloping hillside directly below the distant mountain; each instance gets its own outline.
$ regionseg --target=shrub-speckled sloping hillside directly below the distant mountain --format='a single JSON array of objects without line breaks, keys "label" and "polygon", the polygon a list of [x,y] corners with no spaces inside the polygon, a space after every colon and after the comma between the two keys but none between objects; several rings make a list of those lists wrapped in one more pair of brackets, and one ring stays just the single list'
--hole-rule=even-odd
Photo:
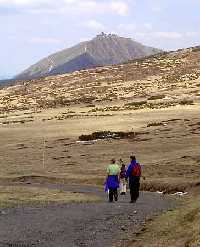
[{"label": "shrub-speckled sloping hillside directly below the distant mountain", "polygon": [[103,102],[123,110],[124,104],[137,101],[143,108],[170,106],[199,99],[199,76],[200,49],[188,48],[121,65],[20,81],[0,91],[0,110]]}]

